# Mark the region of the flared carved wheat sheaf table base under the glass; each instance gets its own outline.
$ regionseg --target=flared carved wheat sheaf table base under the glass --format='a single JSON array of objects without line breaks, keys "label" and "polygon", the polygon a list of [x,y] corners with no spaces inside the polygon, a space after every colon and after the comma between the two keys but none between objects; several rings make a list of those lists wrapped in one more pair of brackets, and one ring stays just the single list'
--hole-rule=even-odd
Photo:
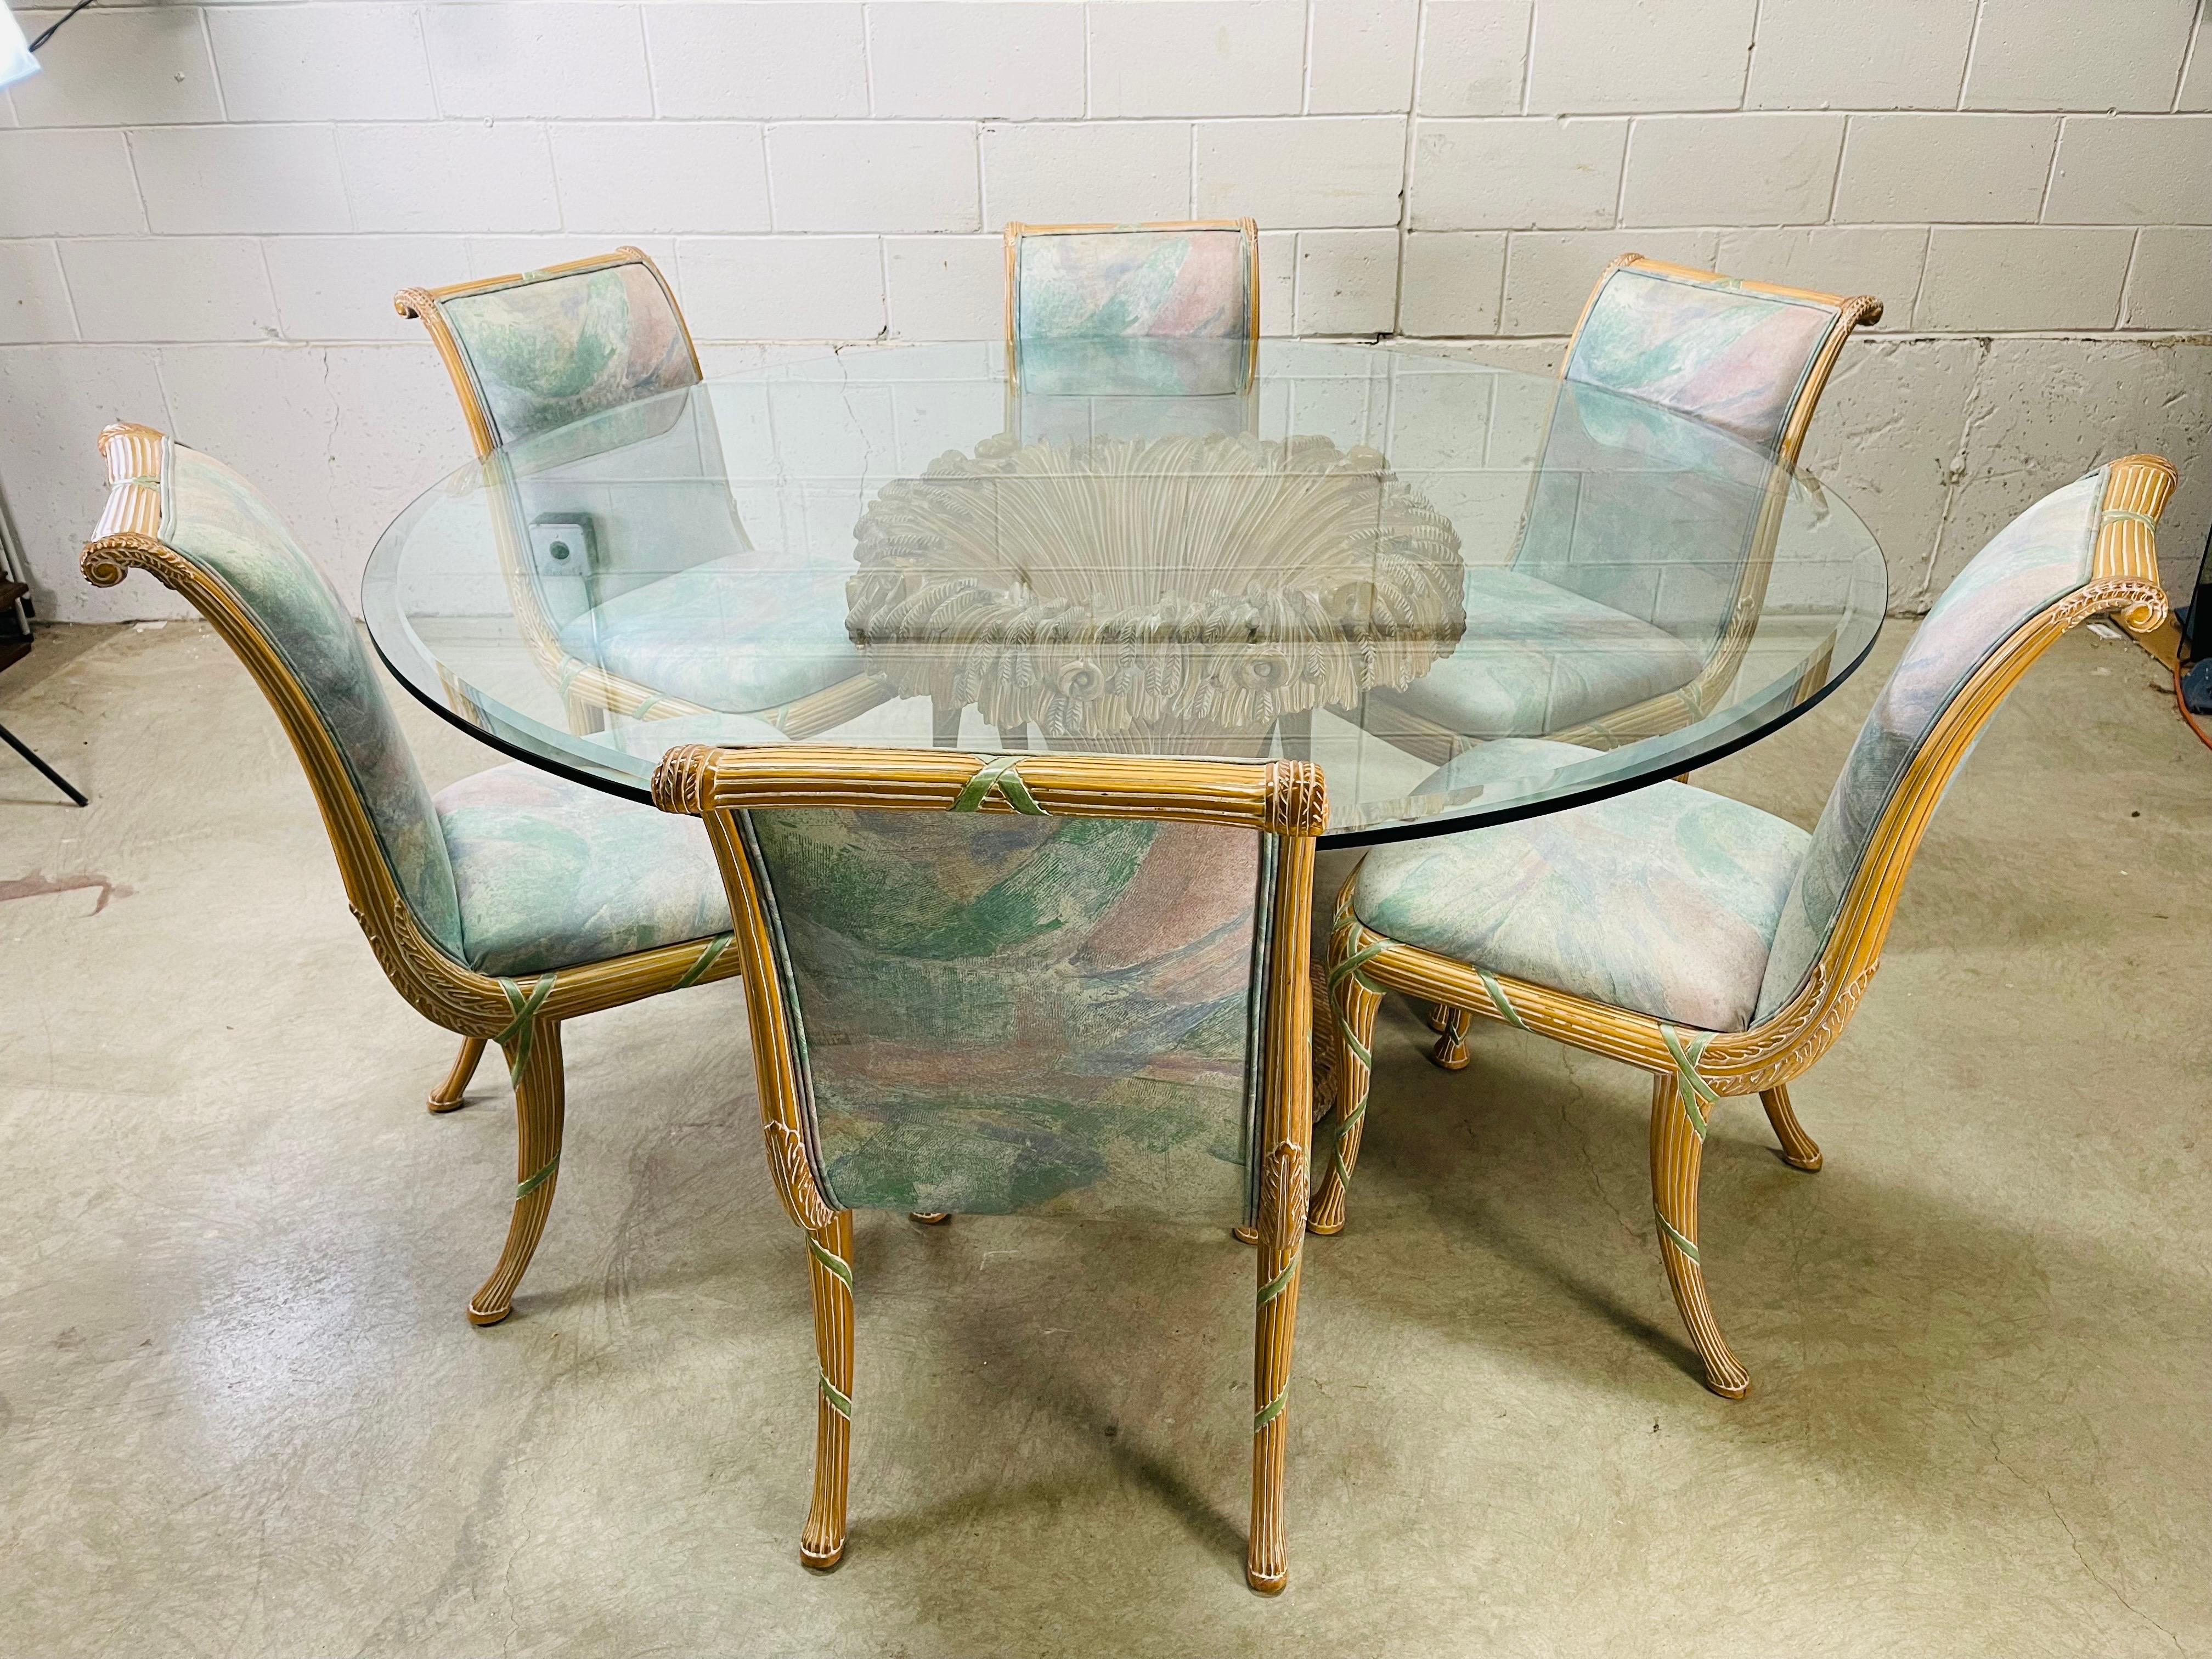
[{"label": "flared carved wheat sheaf table base under the glass", "polygon": [[856,557],[902,695],[1108,752],[1405,688],[1467,628],[1458,531],[1327,438],[993,438],[887,484]]}]

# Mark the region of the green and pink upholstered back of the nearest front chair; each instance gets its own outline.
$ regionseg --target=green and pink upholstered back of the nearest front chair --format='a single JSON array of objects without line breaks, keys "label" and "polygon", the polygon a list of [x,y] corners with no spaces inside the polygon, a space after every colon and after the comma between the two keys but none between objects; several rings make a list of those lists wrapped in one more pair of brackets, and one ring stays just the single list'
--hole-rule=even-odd
[{"label": "green and pink upholstered back of the nearest front chair", "polygon": [[[697,776],[699,754],[714,752],[664,759],[655,801],[703,805],[710,836],[737,854],[723,876],[739,942],[754,909],[768,936],[772,982],[754,980],[750,956],[745,969],[763,1102],[781,1048],[830,1210],[1252,1221],[1279,1139],[1265,1130],[1270,1077],[1281,1095],[1285,1068],[1307,1064],[1279,1040],[1283,975],[1305,973],[1298,929],[1325,812],[1312,768],[902,757],[900,776],[947,772],[931,810],[916,810],[914,785],[894,810],[717,814],[712,799],[686,805],[677,781]],[[825,754],[852,779],[812,783],[814,799],[900,796],[867,779],[880,757]],[[730,763],[796,779],[807,752]],[[1146,765],[1166,776],[1150,799]],[[1086,768],[1133,781],[1079,796],[1055,783]],[[1243,823],[1177,801],[1181,772],[1230,779],[1250,796]],[[1307,816],[1270,834],[1265,801],[1285,781]],[[1301,896],[1285,907],[1294,872]],[[781,1029],[763,1033],[770,1009]]]}]

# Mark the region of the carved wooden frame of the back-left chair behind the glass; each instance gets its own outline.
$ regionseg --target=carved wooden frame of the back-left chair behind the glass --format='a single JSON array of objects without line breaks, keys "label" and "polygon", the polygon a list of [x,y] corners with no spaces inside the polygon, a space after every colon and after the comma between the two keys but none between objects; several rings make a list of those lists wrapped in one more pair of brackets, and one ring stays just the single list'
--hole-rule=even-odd
[{"label": "carved wooden frame of the back-left chair behind the glass", "polygon": [[[692,361],[692,376],[703,380],[706,376],[699,369],[699,347],[692,341],[690,323],[684,321],[684,307],[677,305],[675,290],[661,274],[661,268],[655,265],[653,257],[641,248],[617,248],[611,254],[571,259],[560,265],[546,265],[544,270],[515,272],[509,276],[480,276],[467,283],[447,283],[445,288],[403,288],[392,296],[392,307],[400,316],[418,319],[429,332],[431,343],[438,347],[438,361],[445,363],[445,372],[453,380],[453,394],[460,398],[460,411],[469,422],[469,440],[476,445],[478,460],[487,462],[487,467],[502,469],[495,471],[495,478],[504,484],[500,502],[507,511],[493,513],[493,538],[498,542],[500,571],[507,577],[507,593],[515,613],[515,626],[520,628],[531,657],[538,661],[540,672],[544,672],[546,679],[560,688],[562,706],[568,710],[568,726],[577,732],[599,730],[606,714],[624,714],[628,719],[684,719],[688,714],[712,714],[721,710],[712,710],[706,703],[695,703],[686,697],[668,697],[666,692],[657,692],[655,688],[628,679],[626,675],[608,672],[599,664],[580,661],[560,644],[560,628],[555,628],[553,619],[546,617],[538,597],[538,584],[531,577],[529,531],[522,524],[513,480],[504,471],[500,434],[493,425],[491,407],[484,403],[484,392],[476,380],[476,367],[471,365],[460,336],[453,332],[453,325],[445,314],[445,305],[473,294],[493,294],[502,288],[520,288],[524,283],[542,283],[560,276],[584,276],[595,270],[619,270],[622,265],[641,265],[659,285],[661,294],[668,296],[668,310],[677,319],[677,330],[684,334],[684,349]],[[814,737],[816,732],[843,726],[856,714],[865,714],[869,708],[876,708],[876,703],[883,703],[889,697],[891,688],[874,675],[854,675],[852,679],[825,686],[823,690],[805,697],[794,697],[776,708],[743,712],[790,737]]]}]

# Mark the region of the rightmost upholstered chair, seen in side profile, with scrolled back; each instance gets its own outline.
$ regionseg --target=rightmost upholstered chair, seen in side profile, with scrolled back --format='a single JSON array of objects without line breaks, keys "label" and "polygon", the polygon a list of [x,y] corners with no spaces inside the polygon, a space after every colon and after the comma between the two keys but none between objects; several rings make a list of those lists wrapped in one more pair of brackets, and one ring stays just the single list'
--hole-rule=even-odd
[{"label": "rightmost upholstered chair, seen in side profile, with scrolled back", "polygon": [[[1951,582],[1913,635],[1807,836],[1681,783],[1548,818],[1383,847],[1338,894],[1329,987],[1343,1037],[1336,1152],[1314,1232],[1345,1223],[1383,991],[1447,1011],[1433,1060],[1467,1064],[1473,1015],[1652,1073],[1652,1201],[1674,1303],[1714,1394],[1741,1398],[1699,1265],[1697,1177],[1723,1099],[1759,1095],[1801,1168],[1820,1148],[1790,1082],[1827,1053],[1882,958],[1936,803],[1997,703],[2059,635],[2117,613],[2166,617],[2154,524],[2174,487],[2128,456],[2044,498]],[[1429,787],[1593,750],[1502,741]]]}]

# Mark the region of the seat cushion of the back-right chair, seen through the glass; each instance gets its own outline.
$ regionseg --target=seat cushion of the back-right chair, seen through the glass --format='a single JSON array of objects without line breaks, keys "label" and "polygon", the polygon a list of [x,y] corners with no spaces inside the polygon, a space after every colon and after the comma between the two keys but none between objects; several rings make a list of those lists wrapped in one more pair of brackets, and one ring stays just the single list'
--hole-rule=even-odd
[{"label": "seat cushion of the back-right chair, seen through the glass", "polygon": [[1648,622],[1502,566],[1469,566],[1467,635],[1398,701],[1462,737],[1542,737],[1688,686],[1703,659]]}]

